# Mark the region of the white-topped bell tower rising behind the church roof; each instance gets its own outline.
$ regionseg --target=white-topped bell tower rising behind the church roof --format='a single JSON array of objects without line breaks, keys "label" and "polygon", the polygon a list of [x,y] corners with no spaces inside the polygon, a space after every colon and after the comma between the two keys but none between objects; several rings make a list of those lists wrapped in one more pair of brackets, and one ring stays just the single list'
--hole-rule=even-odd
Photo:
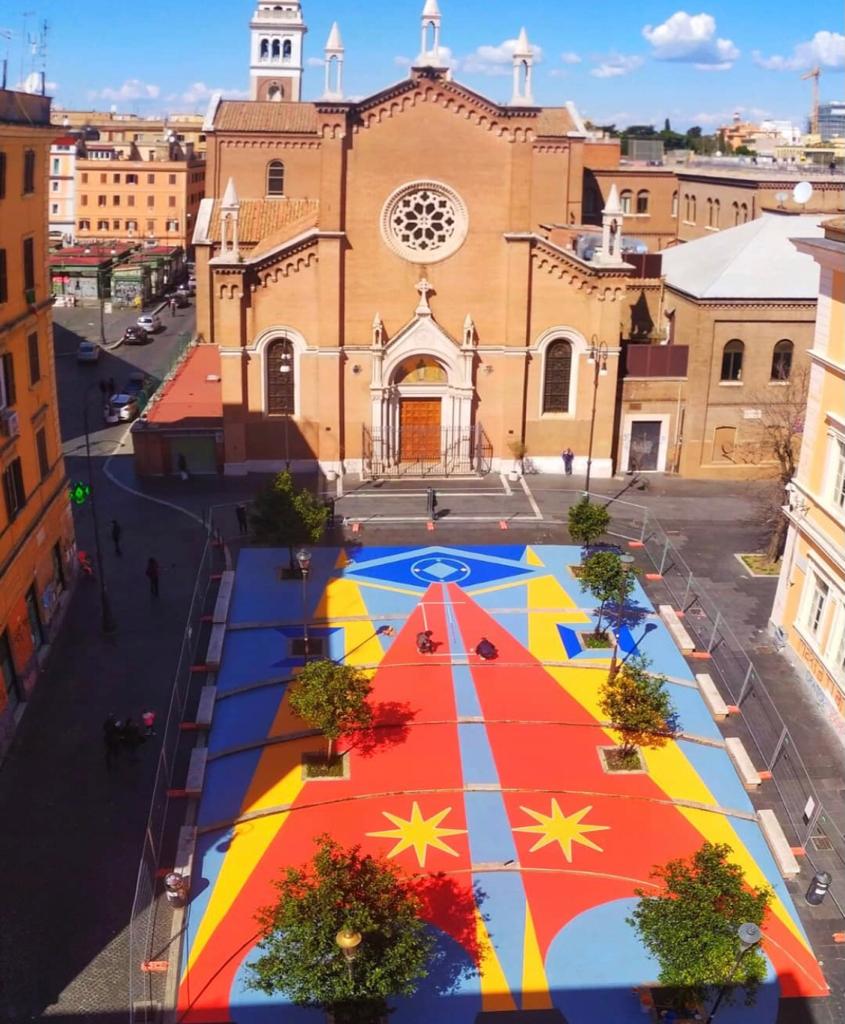
[{"label": "white-topped bell tower rising behind the church roof", "polygon": [[307,26],[299,0],[259,0],[250,22],[250,98],[298,100]]}]

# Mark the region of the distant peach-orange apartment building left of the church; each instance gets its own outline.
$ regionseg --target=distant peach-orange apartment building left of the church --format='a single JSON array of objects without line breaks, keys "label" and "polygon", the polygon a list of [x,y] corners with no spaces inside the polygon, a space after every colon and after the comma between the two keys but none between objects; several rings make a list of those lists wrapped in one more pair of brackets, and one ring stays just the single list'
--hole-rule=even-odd
[{"label": "distant peach-orange apartment building left of the church", "polygon": [[191,245],[205,161],[191,143],[88,142],[76,165],[76,240]]}]

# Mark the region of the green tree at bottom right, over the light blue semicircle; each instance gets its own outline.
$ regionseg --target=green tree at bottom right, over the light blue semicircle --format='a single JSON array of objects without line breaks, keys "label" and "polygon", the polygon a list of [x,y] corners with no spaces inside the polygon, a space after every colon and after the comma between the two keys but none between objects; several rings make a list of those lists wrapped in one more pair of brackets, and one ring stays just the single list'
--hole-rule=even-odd
[{"label": "green tree at bottom right, over the light blue semicircle", "polygon": [[741,925],[760,926],[771,891],[746,884],[725,844],[705,843],[687,859],[657,866],[661,891],[636,889],[639,902],[628,924],[660,964],[659,979],[676,989],[679,1009],[703,1004],[714,988],[740,985],[747,1004],[766,976],[759,948],[742,954]]}]

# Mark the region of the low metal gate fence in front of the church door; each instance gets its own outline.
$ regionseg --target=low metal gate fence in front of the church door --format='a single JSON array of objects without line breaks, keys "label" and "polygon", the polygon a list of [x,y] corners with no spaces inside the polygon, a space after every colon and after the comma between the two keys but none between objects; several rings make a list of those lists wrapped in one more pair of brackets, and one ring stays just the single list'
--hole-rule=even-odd
[{"label": "low metal gate fence in front of the church door", "polygon": [[399,437],[363,428],[362,476],[483,476],[493,445],[480,423],[474,427],[406,426]]}]

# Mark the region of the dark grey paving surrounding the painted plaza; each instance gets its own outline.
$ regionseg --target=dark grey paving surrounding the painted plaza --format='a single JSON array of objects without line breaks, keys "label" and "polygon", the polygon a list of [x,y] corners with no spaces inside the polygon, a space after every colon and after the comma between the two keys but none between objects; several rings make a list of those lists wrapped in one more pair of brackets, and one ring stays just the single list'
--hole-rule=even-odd
[{"label": "dark grey paving surrounding the painted plaza", "polygon": [[[88,324],[74,327],[91,330]],[[118,366],[128,372],[130,365],[136,365],[141,356],[147,358],[147,353],[158,358],[155,346],[162,341],[166,344],[169,337],[170,330],[147,351],[119,349],[110,358],[119,360]],[[76,395],[89,368],[77,367],[61,354],[67,346],[66,334],[57,351],[59,380],[64,382],[62,422],[78,424],[74,421],[78,415],[74,411]],[[100,372],[94,370],[93,376]],[[126,452],[111,460],[107,478],[101,472],[103,456],[121,433],[117,428],[103,432],[95,457],[101,521],[115,516],[124,526],[122,558],[104,544],[118,633],[109,639],[101,636],[97,588],[82,581],[48,670],[0,771],[0,814],[10,822],[0,837],[0,858],[5,865],[0,877],[5,926],[0,930],[0,1019],[15,1024],[41,1018],[78,1020],[79,1014],[99,1024],[126,1019],[126,928],[158,739],[141,750],[138,764],[123,764],[110,774],[102,758],[101,723],[110,712],[138,714],[142,705],[163,709],[167,703],[203,534],[194,518],[160,503],[179,505],[195,514],[214,505],[223,506],[216,521],[225,540],[237,549],[233,506],[248,498],[257,485],[252,478],[138,481]],[[72,477],[84,472],[77,459],[69,460]],[[450,481],[439,487],[440,510],[467,502],[473,514],[489,515],[490,519],[451,520],[447,515],[438,520],[433,536],[417,518],[423,512],[419,494],[423,488],[409,483],[413,494],[390,502],[390,508],[397,511],[397,521],[365,525],[356,537],[348,530],[339,535],[366,546],[497,544],[529,539],[565,543],[565,527],[560,523],[572,496],[564,488],[577,488],[580,482],[578,478],[532,477],[532,497],[544,517],[532,521],[527,518],[534,514],[532,503],[524,493],[514,492],[512,499],[500,494],[498,477],[472,483]],[[345,485],[347,493],[361,487],[352,479]],[[624,486],[625,481],[599,481],[595,489],[616,494]],[[448,494],[476,489],[489,494],[466,499]],[[667,478],[651,481],[646,492],[636,492],[633,498],[630,494],[625,497],[660,516],[673,543],[713,588],[714,596],[731,616],[734,631],[755,647],[755,656],[767,659],[767,682],[805,744],[802,753],[814,781],[827,787],[826,800],[829,795],[832,800],[841,798],[845,783],[840,737],[823,707],[773,653],[764,634],[774,584],[750,580],[732,557],[733,551],[759,544],[753,490],[753,485],[725,487]],[[372,502],[361,493],[354,500]],[[344,501],[338,504],[339,515],[346,514]],[[508,510],[517,508],[525,518],[514,519],[508,531],[501,530],[498,519],[507,518]],[[83,506],[76,514],[80,546],[90,547],[90,510]],[[411,515],[416,521],[407,518]],[[151,599],[143,578],[150,554],[156,555],[165,570],[159,602]],[[841,945],[835,946],[830,938],[823,944],[822,939],[841,930],[842,923],[837,926],[830,900],[808,912],[800,887],[790,887],[837,994],[811,1013],[802,1014],[798,1007],[790,1007],[783,1021],[834,1024],[845,1013],[845,958]]]}]

